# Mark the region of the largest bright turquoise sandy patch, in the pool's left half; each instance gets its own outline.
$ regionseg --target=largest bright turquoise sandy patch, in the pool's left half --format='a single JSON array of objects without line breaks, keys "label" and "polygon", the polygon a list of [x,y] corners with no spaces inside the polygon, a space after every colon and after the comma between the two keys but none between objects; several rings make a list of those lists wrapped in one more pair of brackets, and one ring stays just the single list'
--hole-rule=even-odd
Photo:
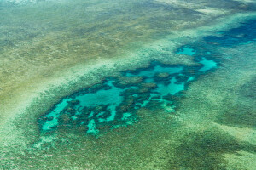
[{"label": "largest bright turquoise sandy patch, in the pool's left half", "polygon": [[[104,105],[106,107],[105,111],[90,111],[88,116],[87,133],[98,133],[98,130],[96,130],[96,121],[113,121],[117,106],[122,103],[124,98],[121,93],[126,89],[129,89],[116,88],[113,85],[113,81],[108,81],[104,85],[107,89],[99,89],[95,93],[80,93],[75,97],[63,99],[60,104],[55,105],[55,109],[53,111],[50,111],[49,114],[45,116],[46,118],[50,118],[50,120],[44,122],[42,129],[44,131],[48,131],[57,127],[59,123],[58,119],[61,114],[68,113],[71,116],[71,121],[76,121],[79,119],[79,115],[84,114],[84,110]],[[80,123],[84,124],[84,122]]]}]

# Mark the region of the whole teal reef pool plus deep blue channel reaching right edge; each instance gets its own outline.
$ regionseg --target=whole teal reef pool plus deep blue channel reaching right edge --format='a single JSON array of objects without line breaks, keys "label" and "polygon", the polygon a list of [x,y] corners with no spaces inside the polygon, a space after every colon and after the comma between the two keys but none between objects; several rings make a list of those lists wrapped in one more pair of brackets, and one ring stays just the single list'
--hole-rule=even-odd
[{"label": "whole teal reef pool plus deep blue channel reaching right edge", "polygon": [[[121,77],[108,77],[101,84],[81,89],[61,99],[60,103],[38,119],[40,131],[47,135],[59,128],[84,127],[84,134],[106,133],[113,128],[138,122],[137,111],[155,102],[157,105],[154,107],[173,112],[173,96],[182,95],[189,82],[218,67],[220,61],[217,56],[221,55],[218,54],[218,47],[254,41],[255,31],[247,32],[251,34],[249,36],[241,36],[241,32],[255,30],[255,26],[255,22],[244,24],[222,32],[218,37],[203,37],[201,42],[177,48],[175,53],[193,56],[200,66],[163,65],[153,61],[148,68],[123,71]],[[234,43],[232,37],[236,37]],[[123,81],[131,78],[140,81]]]}]

